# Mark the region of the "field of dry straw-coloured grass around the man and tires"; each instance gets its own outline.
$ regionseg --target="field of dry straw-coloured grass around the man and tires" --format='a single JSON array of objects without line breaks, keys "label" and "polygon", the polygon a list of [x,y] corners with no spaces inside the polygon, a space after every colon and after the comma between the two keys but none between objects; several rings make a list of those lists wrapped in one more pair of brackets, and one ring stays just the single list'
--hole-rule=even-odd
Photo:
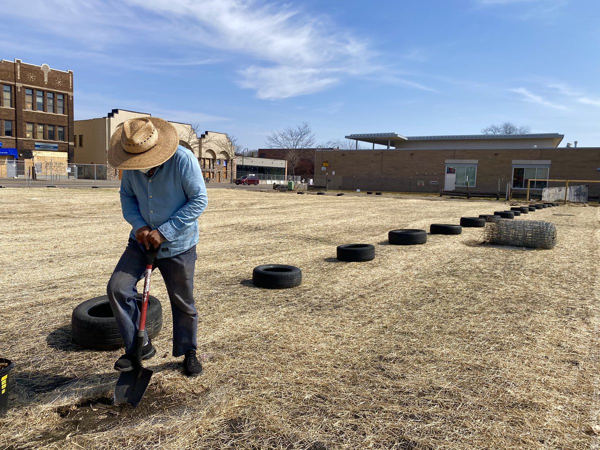
[{"label": "field of dry straw-coloured grass around the man and tires", "polygon": [[[71,311],[103,295],[127,242],[116,190],[0,190],[0,418],[8,449],[589,449],[599,423],[599,208],[556,224],[553,250],[467,245],[482,229],[387,244],[503,202],[209,190],[196,304],[205,374],[171,356],[169,302],[137,409],[111,403],[121,354],[71,343]],[[562,215],[555,215],[562,214]],[[376,245],[344,263],[340,244]],[[254,266],[299,266],[258,289]]]}]

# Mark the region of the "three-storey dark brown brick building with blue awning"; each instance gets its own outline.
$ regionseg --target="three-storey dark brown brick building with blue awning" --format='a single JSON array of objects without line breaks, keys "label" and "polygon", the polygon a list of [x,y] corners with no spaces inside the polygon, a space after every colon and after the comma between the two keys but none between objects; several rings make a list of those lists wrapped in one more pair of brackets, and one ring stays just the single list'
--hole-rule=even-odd
[{"label": "three-storey dark brown brick building with blue awning", "polygon": [[66,173],[73,159],[73,71],[0,60],[0,177]]}]

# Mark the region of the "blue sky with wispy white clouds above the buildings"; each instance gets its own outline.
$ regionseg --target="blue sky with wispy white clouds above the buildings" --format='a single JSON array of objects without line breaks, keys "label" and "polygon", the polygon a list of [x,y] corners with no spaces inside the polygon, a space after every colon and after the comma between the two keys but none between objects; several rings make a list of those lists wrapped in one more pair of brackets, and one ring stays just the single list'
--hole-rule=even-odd
[{"label": "blue sky with wispy white clouds above the buildings", "polygon": [[0,58],[74,71],[75,118],[199,122],[243,147],[308,121],[476,134],[512,121],[600,146],[597,0],[26,0]]}]

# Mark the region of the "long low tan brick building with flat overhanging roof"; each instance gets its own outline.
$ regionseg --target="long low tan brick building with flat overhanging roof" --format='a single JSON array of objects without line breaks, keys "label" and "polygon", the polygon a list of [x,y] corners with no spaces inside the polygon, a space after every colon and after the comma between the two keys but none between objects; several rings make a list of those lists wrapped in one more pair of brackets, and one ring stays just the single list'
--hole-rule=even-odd
[{"label": "long low tan brick building with flat overhanging roof", "polygon": [[[385,149],[317,150],[314,184],[344,190],[436,193],[443,190],[524,193],[527,179],[600,181],[600,148],[559,148],[564,135],[496,134],[404,137],[351,134]],[[541,192],[547,182],[532,183]],[[600,184],[589,184],[590,196]]]}]

